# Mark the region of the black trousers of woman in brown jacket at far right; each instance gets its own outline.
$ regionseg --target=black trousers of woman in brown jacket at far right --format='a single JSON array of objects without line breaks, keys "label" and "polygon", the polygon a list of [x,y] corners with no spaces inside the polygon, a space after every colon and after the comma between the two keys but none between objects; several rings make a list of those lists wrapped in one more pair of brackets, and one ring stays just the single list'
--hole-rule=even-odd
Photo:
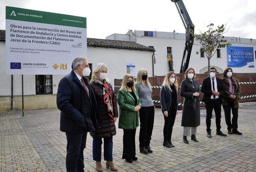
[{"label": "black trousers of woman in brown jacket at far right", "polygon": [[[227,124],[227,129],[237,129],[237,119],[238,119],[238,108],[234,108],[234,102],[228,101],[227,105],[223,105],[225,120]],[[231,123],[231,110],[232,110],[232,123]]]}]

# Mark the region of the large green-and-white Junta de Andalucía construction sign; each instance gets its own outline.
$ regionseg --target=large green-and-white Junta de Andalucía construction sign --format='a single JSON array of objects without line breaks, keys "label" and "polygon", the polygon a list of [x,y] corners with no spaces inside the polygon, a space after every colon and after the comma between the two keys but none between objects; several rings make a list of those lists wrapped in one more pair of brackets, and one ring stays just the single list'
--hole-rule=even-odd
[{"label": "large green-and-white Junta de Andaluc\u00eda construction sign", "polygon": [[6,6],[7,75],[66,75],[87,56],[86,18]]}]

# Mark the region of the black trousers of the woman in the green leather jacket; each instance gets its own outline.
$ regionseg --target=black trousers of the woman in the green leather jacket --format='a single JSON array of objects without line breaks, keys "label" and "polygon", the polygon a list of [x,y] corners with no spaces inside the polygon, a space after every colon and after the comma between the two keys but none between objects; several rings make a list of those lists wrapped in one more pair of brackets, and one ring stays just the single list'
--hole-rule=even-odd
[{"label": "black trousers of the woman in the green leather jacket", "polygon": [[135,134],[136,129],[124,130],[123,135],[123,157],[122,159],[132,159],[135,157]]}]

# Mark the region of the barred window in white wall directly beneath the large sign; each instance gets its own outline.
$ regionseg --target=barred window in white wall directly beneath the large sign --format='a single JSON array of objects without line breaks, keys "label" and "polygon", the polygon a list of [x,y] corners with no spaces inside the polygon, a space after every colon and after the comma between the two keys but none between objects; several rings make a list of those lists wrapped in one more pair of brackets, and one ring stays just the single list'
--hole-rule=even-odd
[{"label": "barred window in white wall directly beneath the large sign", "polygon": [[36,95],[53,94],[53,76],[52,75],[36,75],[35,76],[35,92]]}]

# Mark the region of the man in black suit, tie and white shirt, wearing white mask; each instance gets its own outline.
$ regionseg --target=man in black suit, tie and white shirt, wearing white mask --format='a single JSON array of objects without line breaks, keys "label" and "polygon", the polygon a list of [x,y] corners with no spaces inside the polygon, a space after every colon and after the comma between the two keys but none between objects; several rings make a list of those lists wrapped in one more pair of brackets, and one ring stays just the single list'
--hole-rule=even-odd
[{"label": "man in black suit, tie and white shirt, wearing white mask", "polygon": [[215,75],[217,73],[217,69],[212,67],[210,68],[210,76],[203,79],[201,92],[203,94],[203,102],[206,107],[206,131],[207,137],[211,138],[211,118],[212,118],[212,110],[214,109],[215,117],[216,117],[216,134],[221,136],[227,136],[222,133],[221,129],[221,104],[222,104],[222,96],[224,93],[224,87],[222,84],[222,80],[217,78]]}]

